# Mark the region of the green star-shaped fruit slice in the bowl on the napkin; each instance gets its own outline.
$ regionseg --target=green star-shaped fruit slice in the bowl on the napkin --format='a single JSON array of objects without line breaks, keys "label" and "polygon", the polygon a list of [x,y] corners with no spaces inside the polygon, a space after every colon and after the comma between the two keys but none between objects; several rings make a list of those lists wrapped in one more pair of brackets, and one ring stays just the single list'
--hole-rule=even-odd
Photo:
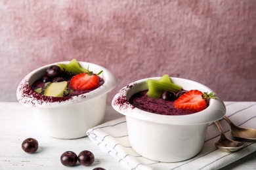
[{"label": "green star-shaped fruit slice in the bowl on the napkin", "polygon": [[148,92],[146,93],[148,97],[160,98],[161,93],[165,91],[177,93],[182,90],[181,86],[171,82],[168,75],[163,75],[159,80],[148,79],[146,83],[148,85]]}]

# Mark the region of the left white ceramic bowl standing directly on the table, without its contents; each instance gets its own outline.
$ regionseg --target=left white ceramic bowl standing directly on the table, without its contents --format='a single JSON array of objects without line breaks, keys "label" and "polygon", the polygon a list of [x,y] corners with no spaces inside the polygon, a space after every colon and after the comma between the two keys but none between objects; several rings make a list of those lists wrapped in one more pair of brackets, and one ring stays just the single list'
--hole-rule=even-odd
[{"label": "left white ceramic bowl standing directly on the table, without its contents", "polygon": [[59,139],[84,137],[89,128],[104,120],[107,93],[116,87],[116,76],[100,65],[79,61],[81,67],[87,69],[89,65],[90,71],[94,73],[103,71],[100,77],[104,79],[104,84],[89,93],[59,101],[60,98],[39,95],[30,88],[54,64],[56,63],[35,69],[25,76],[18,85],[17,99],[22,105],[32,107],[36,124],[43,133]]}]

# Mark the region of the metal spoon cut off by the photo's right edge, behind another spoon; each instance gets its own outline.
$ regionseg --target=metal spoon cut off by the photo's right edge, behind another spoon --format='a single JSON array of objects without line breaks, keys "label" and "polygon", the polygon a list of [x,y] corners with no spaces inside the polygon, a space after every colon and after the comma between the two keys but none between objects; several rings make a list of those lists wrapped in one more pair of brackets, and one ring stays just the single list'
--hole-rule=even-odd
[{"label": "metal spoon cut off by the photo's right edge, behind another spoon", "polygon": [[230,133],[233,137],[245,141],[256,141],[256,129],[247,129],[234,125],[226,116],[223,117],[230,125]]}]

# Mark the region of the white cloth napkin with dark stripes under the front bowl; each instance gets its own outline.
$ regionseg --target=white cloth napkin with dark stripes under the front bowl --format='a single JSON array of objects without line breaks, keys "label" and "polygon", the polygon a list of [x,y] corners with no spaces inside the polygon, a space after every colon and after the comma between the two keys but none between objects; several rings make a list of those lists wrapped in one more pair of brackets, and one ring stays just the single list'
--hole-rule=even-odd
[{"label": "white cloth napkin with dark stripes under the front bowl", "polygon": [[[240,127],[256,128],[256,102],[224,102],[226,116]],[[114,111],[114,110],[113,110]],[[228,123],[220,120],[226,137],[232,139]],[[215,146],[219,131],[215,124],[209,124],[202,151],[190,160],[165,163],[148,160],[133,150],[129,143],[125,117],[93,127],[87,131],[91,141],[116,158],[127,169],[219,169],[256,150],[256,141],[244,142],[244,148],[237,152],[223,152]]]}]

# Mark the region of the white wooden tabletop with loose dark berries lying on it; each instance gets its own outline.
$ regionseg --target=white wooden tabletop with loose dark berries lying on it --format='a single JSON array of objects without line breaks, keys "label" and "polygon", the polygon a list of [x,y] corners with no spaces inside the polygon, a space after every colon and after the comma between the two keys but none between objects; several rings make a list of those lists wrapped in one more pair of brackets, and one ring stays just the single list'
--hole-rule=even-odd
[{"label": "white wooden tabletop with loose dark berries lying on it", "polygon": [[[105,122],[121,117],[111,106],[106,108]],[[22,141],[33,137],[39,142],[35,154],[27,154],[21,148]],[[65,167],[60,163],[60,155],[72,150],[79,154],[91,150],[95,162],[89,167],[77,164]],[[0,169],[125,169],[121,163],[96,146],[89,137],[81,139],[54,139],[38,133],[33,122],[32,110],[18,102],[0,102]],[[256,169],[256,152],[238,160],[223,169]]]}]

